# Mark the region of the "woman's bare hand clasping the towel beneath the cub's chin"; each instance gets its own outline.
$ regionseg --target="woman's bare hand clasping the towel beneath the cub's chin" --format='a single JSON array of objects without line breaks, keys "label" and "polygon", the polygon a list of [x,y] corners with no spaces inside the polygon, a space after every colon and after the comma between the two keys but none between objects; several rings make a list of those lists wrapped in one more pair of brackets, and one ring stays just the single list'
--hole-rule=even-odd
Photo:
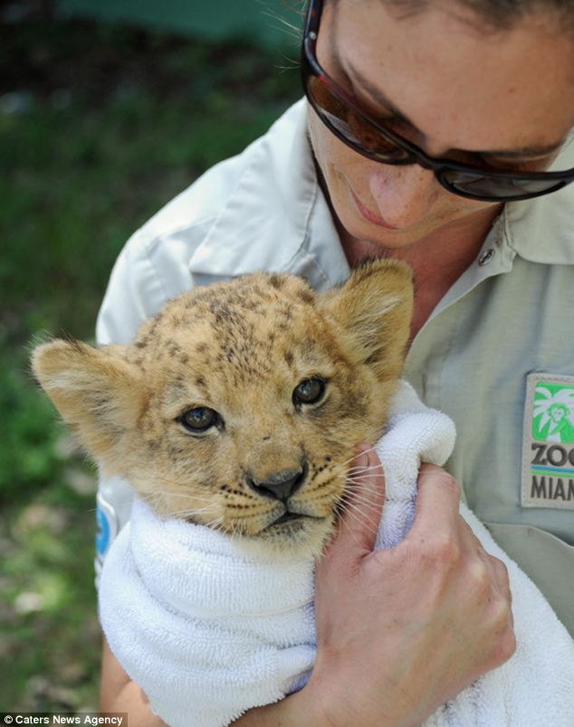
[{"label": "woman's bare hand clasping the towel beneath the cub's chin", "polygon": [[431,465],[407,537],[373,552],[384,478],[372,450],[354,465],[368,469],[318,566],[318,655],[303,692],[326,724],[414,725],[512,656],[508,574],[459,515],[457,482]]}]

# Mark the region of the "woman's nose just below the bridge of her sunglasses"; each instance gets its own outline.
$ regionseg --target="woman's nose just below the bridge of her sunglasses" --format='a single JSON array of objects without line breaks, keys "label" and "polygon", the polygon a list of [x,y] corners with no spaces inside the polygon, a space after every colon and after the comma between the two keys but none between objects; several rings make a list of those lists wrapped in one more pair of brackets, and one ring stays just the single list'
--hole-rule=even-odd
[{"label": "woman's nose just below the bridge of her sunglasses", "polygon": [[424,218],[443,191],[434,173],[416,164],[378,165],[370,172],[369,189],[377,205],[373,212],[399,229]]}]

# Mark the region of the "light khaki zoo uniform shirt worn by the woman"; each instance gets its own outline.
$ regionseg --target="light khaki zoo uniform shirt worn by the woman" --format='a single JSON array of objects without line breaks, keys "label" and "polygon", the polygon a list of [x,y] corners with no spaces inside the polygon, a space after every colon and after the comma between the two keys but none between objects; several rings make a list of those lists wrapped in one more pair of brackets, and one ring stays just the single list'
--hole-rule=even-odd
[{"label": "light khaki zoo uniform shirt worn by the woman", "polygon": [[[569,154],[562,164],[571,167],[574,149]],[[467,504],[572,634],[573,266],[574,184],[506,204],[474,263],[416,335],[405,374],[456,424],[447,468]],[[98,340],[128,343],[168,298],[258,269],[301,275],[319,290],[349,276],[302,100],[129,240],[100,310]],[[127,483],[100,482],[100,560],[129,517],[129,501]]]}]

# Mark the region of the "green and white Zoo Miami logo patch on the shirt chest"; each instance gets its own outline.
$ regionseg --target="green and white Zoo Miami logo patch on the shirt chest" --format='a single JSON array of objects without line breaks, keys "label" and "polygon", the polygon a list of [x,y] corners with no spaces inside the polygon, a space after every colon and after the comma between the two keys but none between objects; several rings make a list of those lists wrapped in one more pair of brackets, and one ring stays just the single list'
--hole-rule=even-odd
[{"label": "green and white Zoo Miami logo patch on the shirt chest", "polygon": [[574,510],[574,376],[526,378],[521,505]]}]

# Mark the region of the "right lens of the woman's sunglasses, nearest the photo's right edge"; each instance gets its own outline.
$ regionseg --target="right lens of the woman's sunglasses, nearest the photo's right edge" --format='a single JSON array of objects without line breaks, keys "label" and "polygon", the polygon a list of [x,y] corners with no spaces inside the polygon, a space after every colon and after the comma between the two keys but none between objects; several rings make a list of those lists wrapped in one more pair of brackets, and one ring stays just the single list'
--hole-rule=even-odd
[{"label": "right lens of the woman's sunglasses, nearest the photo's right edge", "polygon": [[454,170],[446,171],[441,176],[455,192],[469,194],[478,199],[512,200],[522,196],[546,194],[563,186],[563,182],[556,179],[509,179]]}]

